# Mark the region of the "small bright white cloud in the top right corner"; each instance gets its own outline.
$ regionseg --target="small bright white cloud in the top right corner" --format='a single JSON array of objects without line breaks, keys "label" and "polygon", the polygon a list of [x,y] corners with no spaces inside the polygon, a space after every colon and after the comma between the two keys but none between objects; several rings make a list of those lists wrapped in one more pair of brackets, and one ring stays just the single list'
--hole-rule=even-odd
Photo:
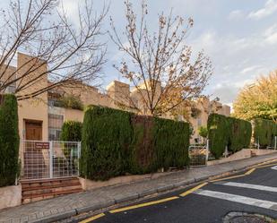
[{"label": "small bright white cloud in the top right corner", "polygon": [[266,16],[269,16],[277,11],[277,0],[267,0],[264,4],[264,7],[257,10],[252,11],[248,14],[248,18],[260,20]]}]

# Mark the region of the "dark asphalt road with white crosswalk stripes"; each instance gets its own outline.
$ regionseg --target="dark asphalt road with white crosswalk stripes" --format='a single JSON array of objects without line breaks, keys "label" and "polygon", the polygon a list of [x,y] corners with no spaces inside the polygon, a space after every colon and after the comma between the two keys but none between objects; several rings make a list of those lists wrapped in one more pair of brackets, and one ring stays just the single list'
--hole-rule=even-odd
[{"label": "dark asphalt road with white crosswalk stripes", "polygon": [[[277,166],[277,163],[275,164]],[[93,223],[202,223],[222,222],[231,211],[258,213],[277,219],[277,167],[256,168],[248,175],[202,184],[144,201],[147,206],[104,213]],[[185,196],[181,196],[185,193]],[[172,201],[147,203],[172,198]],[[138,203],[140,204],[140,203]],[[129,209],[129,210],[128,210]],[[118,212],[117,212],[118,211]]]}]

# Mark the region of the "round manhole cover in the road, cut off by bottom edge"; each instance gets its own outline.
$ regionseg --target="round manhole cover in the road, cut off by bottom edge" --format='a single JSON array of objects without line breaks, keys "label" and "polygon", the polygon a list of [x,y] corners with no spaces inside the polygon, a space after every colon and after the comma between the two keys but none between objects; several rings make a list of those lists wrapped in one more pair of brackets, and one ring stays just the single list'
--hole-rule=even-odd
[{"label": "round manhole cover in the road, cut off by bottom edge", "polygon": [[223,223],[273,223],[276,222],[267,216],[245,212],[230,212],[223,219]]}]

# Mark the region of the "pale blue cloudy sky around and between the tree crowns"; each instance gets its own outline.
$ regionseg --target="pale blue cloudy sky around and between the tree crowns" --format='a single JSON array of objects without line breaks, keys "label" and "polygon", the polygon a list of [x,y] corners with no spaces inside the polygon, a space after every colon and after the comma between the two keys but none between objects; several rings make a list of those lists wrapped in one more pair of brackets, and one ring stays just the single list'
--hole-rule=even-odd
[{"label": "pale blue cloudy sky around and between the tree crowns", "polygon": [[[68,15],[77,18],[77,5],[84,0],[64,0]],[[8,2],[8,0],[4,0]],[[94,1],[100,10],[104,1]],[[132,1],[139,9],[138,0]],[[149,21],[157,26],[158,13],[173,13],[185,18],[193,17],[195,26],[186,44],[197,52],[204,49],[211,57],[214,73],[206,94],[220,97],[231,104],[238,90],[255,81],[261,74],[277,68],[277,0],[148,0]],[[2,2],[3,3],[3,2]],[[109,29],[111,16],[118,29],[125,24],[124,0],[110,0],[110,10],[103,25]],[[139,12],[138,12],[139,13]],[[103,86],[120,79],[112,64],[119,63],[122,54],[108,39],[108,63],[104,68]]]}]

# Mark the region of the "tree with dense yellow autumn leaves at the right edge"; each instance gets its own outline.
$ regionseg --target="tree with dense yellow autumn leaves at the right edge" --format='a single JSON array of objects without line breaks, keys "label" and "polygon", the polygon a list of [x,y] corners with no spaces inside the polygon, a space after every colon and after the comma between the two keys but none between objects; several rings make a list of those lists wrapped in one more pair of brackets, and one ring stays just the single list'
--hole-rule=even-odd
[{"label": "tree with dense yellow autumn leaves at the right edge", "polygon": [[234,102],[234,116],[246,120],[270,119],[277,123],[277,71],[245,86]]}]

